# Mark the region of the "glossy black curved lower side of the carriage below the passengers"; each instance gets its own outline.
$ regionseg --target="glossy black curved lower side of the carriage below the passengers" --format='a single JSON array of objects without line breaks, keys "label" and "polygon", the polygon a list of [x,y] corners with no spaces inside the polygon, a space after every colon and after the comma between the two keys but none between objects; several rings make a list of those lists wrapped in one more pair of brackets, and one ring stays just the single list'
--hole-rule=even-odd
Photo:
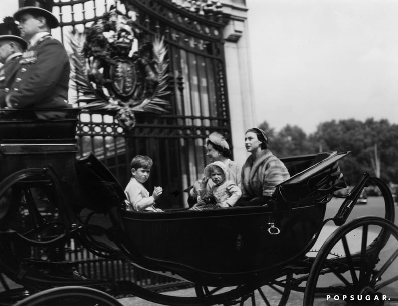
[{"label": "glossy black curved lower side of the carriage below the passengers", "polygon": [[[273,278],[272,271],[305,253],[321,229],[325,208],[125,211],[122,243],[144,267],[157,266],[192,282],[235,285],[255,275]],[[271,234],[272,224],[279,234]]]}]

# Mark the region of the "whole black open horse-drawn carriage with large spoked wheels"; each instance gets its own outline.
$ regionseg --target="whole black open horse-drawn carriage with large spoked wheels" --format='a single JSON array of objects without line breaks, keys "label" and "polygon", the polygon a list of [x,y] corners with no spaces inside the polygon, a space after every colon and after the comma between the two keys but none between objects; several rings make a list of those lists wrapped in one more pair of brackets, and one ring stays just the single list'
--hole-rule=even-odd
[{"label": "whole black open horse-drawn carriage with large spoked wheels", "polygon": [[[398,276],[388,272],[398,256],[398,228],[386,184],[363,174],[336,214],[325,218],[334,191],[344,187],[339,160],[348,152],[282,159],[291,177],[263,206],[132,212],[98,159],[76,160],[78,109],[65,111],[57,120],[0,119],[0,272],[23,286],[0,293],[0,304],[120,305],[113,296],[128,293],[169,305],[254,304],[257,297],[284,305],[291,291],[304,293],[304,305],[317,296],[382,304],[396,294],[391,287]],[[381,192],[382,218],[346,222],[369,184]],[[56,220],[41,210],[43,199]],[[337,229],[311,255],[328,222]],[[87,279],[73,261],[40,256],[41,248],[62,247],[70,238],[98,256],[190,282],[195,294]],[[266,288],[273,298],[279,294],[277,301]]]}]

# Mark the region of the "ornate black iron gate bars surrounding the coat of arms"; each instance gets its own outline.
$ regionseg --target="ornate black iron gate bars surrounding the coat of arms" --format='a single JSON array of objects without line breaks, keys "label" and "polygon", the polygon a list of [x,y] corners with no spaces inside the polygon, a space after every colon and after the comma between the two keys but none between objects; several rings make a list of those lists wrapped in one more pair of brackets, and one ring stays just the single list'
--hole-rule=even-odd
[{"label": "ornate black iron gate bars surrounding the coat of arms", "polygon": [[[77,134],[80,155],[94,152],[122,186],[130,178],[131,158],[150,156],[154,166],[148,186],[164,190],[158,206],[182,207],[186,202],[182,190],[202,175],[206,165],[206,136],[213,131],[230,136],[222,37],[226,16],[220,3],[210,0],[179,5],[175,0],[58,1],[53,13],[60,16],[64,43],[72,29],[90,27],[111,5],[130,16],[143,33],[164,37],[170,92],[164,98],[170,111],[136,113],[130,130],[118,125],[115,112],[84,111]],[[81,98],[81,92],[77,95]]]}]

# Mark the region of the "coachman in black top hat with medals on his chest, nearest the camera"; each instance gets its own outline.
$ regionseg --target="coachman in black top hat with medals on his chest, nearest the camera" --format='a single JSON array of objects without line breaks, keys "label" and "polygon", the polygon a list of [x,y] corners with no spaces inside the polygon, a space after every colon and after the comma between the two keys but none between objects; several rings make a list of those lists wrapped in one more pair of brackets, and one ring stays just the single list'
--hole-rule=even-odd
[{"label": "coachman in black top hat with medals on his chest, nearest the camera", "polygon": [[25,0],[14,14],[29,45],[13,81],[5,88],[8,107],[34,109],[39,119],[63,117],[65,112],[56,109],[72,107],[68,104],[69,57],[62,43],[50,34],[59,25],[52,7],[52,0]]}]

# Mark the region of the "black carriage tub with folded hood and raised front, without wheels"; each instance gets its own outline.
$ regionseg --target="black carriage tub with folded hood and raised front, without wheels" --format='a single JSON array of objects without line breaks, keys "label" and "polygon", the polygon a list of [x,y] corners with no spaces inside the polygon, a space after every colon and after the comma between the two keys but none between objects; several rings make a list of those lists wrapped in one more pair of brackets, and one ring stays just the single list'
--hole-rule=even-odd
[{"label": "black carriage tub with folded hood and raised front, without wheels", "polygon": [[[291,171],[292,183],[288,186],[305,188],[317,196],[297,198],[300,205],[285,201],[288,194],[279,189],[266,206],[203,211],[127,211],[121,204],[123,189],[101,162],[90,155],[77,164],[79,176],[84,178],[83,190],[101,191],[85,195],[85,199],[94,199],[85,202],[86,206],[98,212],[107,210],[106,203],[109,208],[120,208],[119,218],[113,221],[123,234],[113,239],[132,262],[148,270],[169,271],[192,282],[217,286],[239,284],[260,275],[262,279],[274,277],[311,248],[333,193],[332,189],[313,190],[311,178],[319,173],[326,178],[324,184],[333,187],[339,176],[339,172],[334,176],[333,165],[344,155],[327,152],[285,159],[288,168],[296,172]],[[306,176],[308,171],[310,176]],[[297,176],[299,180],[295,180]],[[275,231],[272,226],[280,233],[270,233]]]}]

